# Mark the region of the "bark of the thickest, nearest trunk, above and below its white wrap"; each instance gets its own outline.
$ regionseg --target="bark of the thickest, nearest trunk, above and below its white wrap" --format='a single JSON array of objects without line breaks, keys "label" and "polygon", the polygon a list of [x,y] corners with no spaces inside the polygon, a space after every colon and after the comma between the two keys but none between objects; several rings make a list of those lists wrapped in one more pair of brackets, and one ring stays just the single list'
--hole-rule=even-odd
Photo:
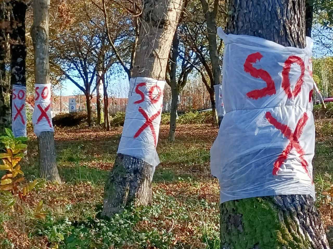
[{"label": "bark of the thickest, nearest trunk, above and below its white wrap", "polygon": [[[227,33],[305,46],[305,0],[232,0]],[[329,248],[310,195],[247,198],[221,204],[221,249]]]}]

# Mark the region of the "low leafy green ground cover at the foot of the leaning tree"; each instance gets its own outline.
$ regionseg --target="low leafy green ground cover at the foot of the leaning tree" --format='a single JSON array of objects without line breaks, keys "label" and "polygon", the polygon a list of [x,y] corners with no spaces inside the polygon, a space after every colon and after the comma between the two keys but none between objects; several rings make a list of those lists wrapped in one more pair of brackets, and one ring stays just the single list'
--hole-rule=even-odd
[{"label": "low leafy green ground cover at the foot of the leaning tree", "polygon": [[101,206],[97,207],[98,213],[95,217],[85,218],[84,221],[70,221],[68,218],[56,221],[54,217],[47,215],[45,221],[39,221],[34,234],[47,236],[54,247],[64,249],[124,247],[169,249],[175,242],[172,232],[154,227],[138,230],[136,227],[139,223],[157,220],[163,207],[168,205],[168,197],[157,194],[160,197],[159,202],[163,204],[150,207],[129,206],[111,218],[101,216]]}]

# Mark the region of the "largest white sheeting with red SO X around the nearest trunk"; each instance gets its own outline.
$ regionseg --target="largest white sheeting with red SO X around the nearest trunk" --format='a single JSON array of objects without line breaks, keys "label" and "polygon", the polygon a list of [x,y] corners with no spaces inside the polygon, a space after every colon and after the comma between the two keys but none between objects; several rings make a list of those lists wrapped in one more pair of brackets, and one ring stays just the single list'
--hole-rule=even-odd
[{"label": "largest white sheeting with red SO X around the nearest trunk", "polygon": [[221,203],[258,196],[310,194],[315,128],[312,41],[304,49],[245,35],[225,43],[224,116],[211,154]]}]

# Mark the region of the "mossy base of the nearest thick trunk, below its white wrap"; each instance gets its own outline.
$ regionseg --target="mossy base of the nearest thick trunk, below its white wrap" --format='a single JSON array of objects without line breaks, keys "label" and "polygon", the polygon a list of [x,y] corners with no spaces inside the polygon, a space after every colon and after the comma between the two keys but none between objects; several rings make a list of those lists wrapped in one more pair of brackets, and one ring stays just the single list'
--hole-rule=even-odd
[{"label": "mossy base of the nearest thick trunk, below its white wrap", "polygon": [[307,195],[281,195],[229,201],[221,205],[221,248],[329,248]]}]

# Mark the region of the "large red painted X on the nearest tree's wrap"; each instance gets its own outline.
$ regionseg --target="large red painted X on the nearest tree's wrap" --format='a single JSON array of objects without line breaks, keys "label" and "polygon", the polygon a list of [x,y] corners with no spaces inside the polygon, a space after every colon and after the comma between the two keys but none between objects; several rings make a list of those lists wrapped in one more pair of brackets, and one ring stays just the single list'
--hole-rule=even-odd
[{"label": "large red painted X on the nearest tree's wrap", "polygon": [[299,141],[298,141],[298,138],[301,136],[301,134],[303,132],[303,128],[309,119],[308,115],[306,113],[303,114],[302,118],[298,121],[298,123],[296,125],[294,133],[292,133],[291,129],[287,125],[281,124],[276,119],[274,119],[270,112],[266,112],[265,116],[266,116],[266,119],[268,120],[268,122],[271,123],[272,125],[274,125],[274,127],[276,127],[277,129],[279,129],[282,132],[282,134],[286,138],[288,138],[290,141],[289,144],[287,145],[287,147],[282,151],[282,153],[278,156],[277,160],[274,162],[273,175],[277,175],[277,172],[279,171],[282,163],[287,159],[291,149],[295,148],[297,153],[300,155],[299,158],[301,160],[301,164],[302,164],[306,174],[312,180],[311,175],[307,169],[308,163],[303,158],[303,156],[305,155],[305,151],[300,146]]}]

